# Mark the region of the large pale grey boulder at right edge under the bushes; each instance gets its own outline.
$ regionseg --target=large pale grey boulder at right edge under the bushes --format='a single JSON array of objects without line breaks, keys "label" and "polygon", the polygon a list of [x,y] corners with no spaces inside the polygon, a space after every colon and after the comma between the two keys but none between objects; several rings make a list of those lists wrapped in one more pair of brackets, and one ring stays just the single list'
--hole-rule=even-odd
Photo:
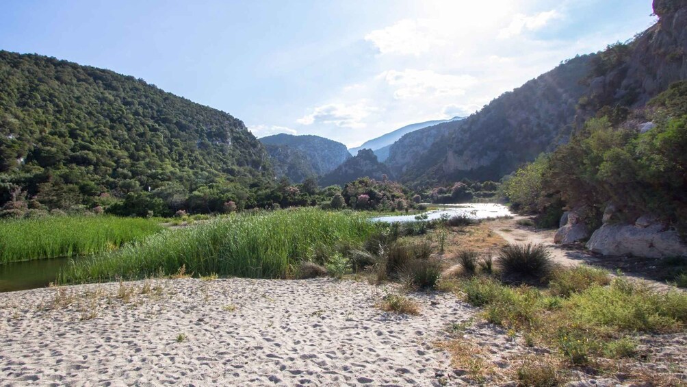
[{"label": "large pale grey boulder at right edge under the bushes", "polygon": [[[640,218],[642,219],[642,218]],[[660,223],[641,225],[604,224],[592,234],[587,249],[604,255],[666,258],[687,256],[687,245],[675,230]]]}]

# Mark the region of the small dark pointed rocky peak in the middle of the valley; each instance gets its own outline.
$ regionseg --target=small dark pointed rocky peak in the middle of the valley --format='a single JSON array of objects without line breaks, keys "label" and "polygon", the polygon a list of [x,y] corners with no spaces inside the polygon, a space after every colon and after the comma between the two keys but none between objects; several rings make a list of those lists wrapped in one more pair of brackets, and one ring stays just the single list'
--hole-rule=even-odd
[{"label": "small dark pointed rocky peak in the middle of the valley", "polygon": [[370,149],[361,149],[357,155],[346,160],[335,170],[320,178],[319,184],[321,186],[343,186],[348,181],[361,177],[383,180],[383,175],[391,177],[389,168],[379,162]]}]

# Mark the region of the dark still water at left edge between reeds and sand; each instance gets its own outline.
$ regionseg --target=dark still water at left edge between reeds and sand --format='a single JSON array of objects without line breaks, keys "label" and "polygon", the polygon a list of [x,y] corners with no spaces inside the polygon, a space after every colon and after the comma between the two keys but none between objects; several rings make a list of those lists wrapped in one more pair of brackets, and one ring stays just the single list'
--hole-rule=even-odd
[{"label": "dark still water at left edge between reeds and sand", "polygon": [[65,257],[0,265],[0,292],[46,287],[55,282],[67,263],[69,258]]}]

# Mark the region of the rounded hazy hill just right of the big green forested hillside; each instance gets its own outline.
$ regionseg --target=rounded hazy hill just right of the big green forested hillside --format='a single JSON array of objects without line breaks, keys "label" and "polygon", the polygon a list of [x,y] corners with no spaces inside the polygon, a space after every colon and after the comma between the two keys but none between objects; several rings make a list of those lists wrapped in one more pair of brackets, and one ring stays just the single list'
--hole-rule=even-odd
[{"label": "rounded hazy hill just right of the big green forested hillside", "polygon": [[346,145],[317,135],[280,133],[262,137],[260,142],[267,146],[277,176],[295,183],[308,176],[326,175],[352,157]]}]

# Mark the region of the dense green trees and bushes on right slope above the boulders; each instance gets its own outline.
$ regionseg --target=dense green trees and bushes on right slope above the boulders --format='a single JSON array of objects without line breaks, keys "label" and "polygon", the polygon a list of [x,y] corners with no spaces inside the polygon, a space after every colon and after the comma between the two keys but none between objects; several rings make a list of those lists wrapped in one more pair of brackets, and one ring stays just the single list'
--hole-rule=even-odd
[{"label": "dense green trees and bushes on right slope above the boulders", "polygon": [[[600,114],[606,113],[605,110]],[[641,133],[638,123],[653,121]],[[587,121],[570,143],[519,170],[504,186],[517,208],[587,206],[600,212],[613,203],[618,221],[653,214],[687,230],[687,82],[678,82],[647,109]]]}]

